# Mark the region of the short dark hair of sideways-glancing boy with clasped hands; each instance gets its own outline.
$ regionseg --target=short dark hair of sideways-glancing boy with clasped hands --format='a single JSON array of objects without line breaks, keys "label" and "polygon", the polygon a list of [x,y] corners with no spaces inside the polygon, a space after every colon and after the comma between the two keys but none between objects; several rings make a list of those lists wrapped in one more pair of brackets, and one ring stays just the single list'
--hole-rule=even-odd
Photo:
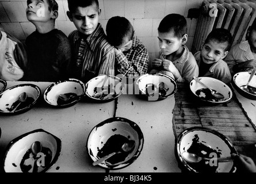
[{"label": "short dark hair of sideways-glancing boy with clasped hands", "polygon": [[167,33],[173,32],[174,36],[179,39],[188,31],[186,18],[180,14],[169,14],[160,22],[158,32]]}]

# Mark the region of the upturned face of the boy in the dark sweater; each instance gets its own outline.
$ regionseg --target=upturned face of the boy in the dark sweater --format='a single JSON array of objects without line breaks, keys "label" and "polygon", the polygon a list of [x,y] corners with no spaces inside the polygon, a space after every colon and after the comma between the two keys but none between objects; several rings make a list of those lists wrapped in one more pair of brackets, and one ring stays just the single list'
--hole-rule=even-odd
[{"label": "upturned face of the boy in the dark sweater", "polygon": [[28,18],[30,22],[46,22],[51,20],[52,12],[49,11],[47,0],[28,0],[26,3],[28,5],[28,7],[26,7],[26,18]]}]

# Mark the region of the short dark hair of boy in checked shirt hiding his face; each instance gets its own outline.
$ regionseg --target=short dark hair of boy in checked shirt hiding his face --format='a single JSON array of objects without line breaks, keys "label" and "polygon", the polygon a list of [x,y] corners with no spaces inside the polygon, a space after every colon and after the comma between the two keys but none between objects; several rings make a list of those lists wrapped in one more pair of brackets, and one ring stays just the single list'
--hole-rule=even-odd
[{"label": "short dark hair of boy in checked shirt hiding his face", "polygon": [[132,40],[133,26],[125,17],[112,17],[106,24],[106,34],[111,45],[119,46],[123,44],[125,37]]}]

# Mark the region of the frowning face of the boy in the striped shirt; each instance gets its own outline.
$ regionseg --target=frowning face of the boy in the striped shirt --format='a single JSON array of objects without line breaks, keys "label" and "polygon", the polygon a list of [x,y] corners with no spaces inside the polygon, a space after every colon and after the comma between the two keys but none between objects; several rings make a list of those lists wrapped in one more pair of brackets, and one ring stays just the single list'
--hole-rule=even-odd
[{"label": "frowning face of the boy in the striped shirt", "polygon": [[97,5],[93,4],[87,7],[77,7],[73,13],[68,11],[67,15],[80,33],[89,35],[97,28],[100,13]]}]

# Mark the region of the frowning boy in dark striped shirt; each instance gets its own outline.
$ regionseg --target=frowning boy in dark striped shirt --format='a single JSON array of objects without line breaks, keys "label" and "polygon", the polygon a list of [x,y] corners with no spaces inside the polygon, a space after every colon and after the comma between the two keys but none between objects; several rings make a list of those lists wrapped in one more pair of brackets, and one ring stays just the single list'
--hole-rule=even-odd
[{"label": "frowning boy in dark striped shirt", "polygon": [[114,75],[114,49],[98,23],[101,9],[97,0],[68,0],[67,16],[77,30],[70,39],[74,77],[83,82],[100,74]]}]

